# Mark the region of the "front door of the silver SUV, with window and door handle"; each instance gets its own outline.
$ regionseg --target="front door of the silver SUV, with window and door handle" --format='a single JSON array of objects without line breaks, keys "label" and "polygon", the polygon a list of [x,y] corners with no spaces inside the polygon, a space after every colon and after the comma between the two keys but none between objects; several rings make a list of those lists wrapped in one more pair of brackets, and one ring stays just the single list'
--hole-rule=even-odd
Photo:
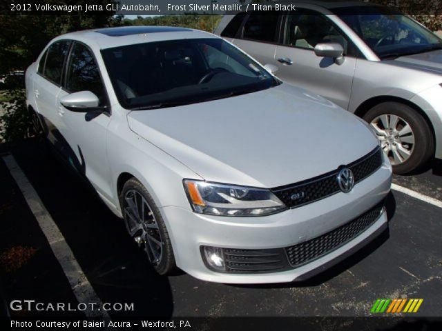
[{"label": "front door of the silver SUV, with window and door handle", "polygon": [[[340,43],[345,61],[318,57],[318,43]],[[296,10],[283,23],[282,44],[276,49],[278,77],[348,108],[357,57],[356,47],[328,17],[312,10]]]}]

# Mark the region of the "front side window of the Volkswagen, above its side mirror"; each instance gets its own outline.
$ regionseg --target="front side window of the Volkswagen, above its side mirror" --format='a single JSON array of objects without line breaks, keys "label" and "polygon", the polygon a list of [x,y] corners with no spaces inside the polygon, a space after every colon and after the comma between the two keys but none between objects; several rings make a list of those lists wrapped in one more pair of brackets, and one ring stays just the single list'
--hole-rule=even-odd
[{"label": "front side window of the Volkswagen, above its side mirror", "polygon": [[66,89],[69,92],[93,92],[100,103],[104,102],[104,86],[95,57],[82,43],[75,43],[70,52]]}]

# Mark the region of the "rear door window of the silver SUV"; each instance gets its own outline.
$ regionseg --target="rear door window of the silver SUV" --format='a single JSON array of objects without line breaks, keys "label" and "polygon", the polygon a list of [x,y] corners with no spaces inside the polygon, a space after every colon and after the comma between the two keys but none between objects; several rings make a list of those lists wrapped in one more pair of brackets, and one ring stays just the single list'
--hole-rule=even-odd
[{"label": "rear door window of the silver SUV", "polygon": [[252,12],[244,25],[245,39],[258,41],[276,41],[276,31],[278,30],[277,14],[262,14]]}]

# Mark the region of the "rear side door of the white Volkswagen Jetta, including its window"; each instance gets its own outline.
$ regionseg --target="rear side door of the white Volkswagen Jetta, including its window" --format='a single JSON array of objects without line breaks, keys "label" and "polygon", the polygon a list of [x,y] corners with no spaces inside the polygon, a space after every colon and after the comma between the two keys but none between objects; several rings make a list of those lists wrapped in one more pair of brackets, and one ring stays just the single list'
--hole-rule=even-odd
[{"label": "rear side door of the white Volkswagen Jetta, including its window", "polygon": [[61,90],[61,79],[70,44],[69,40],[61,40],[49,46],[40,59],[33,84],[37,112],[43,118],[42,124],[49,141],[59,151],[63,149],[60,130],[64,124],[57,111],[57,97]]}]

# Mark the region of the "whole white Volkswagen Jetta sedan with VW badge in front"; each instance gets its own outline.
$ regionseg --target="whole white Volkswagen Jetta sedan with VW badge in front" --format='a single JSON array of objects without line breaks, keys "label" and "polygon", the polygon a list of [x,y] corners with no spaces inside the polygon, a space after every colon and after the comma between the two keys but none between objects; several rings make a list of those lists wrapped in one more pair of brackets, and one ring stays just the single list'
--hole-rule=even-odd
[{"label": "whole white Volkswagen Jetta sedan with VW badge in front", "polygon": [[105,28],[52,40],[28,109],[160,274],[305,279],[387,228],[375,134],[213,34]]}]

